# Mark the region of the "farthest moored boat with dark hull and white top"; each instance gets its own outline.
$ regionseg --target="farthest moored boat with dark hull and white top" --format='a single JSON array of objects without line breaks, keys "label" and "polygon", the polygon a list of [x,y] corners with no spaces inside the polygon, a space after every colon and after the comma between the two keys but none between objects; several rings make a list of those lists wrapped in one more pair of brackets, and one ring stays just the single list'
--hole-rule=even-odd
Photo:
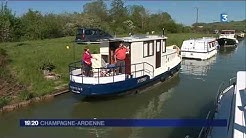
[{"label": "farthest moored boat with dark hull and white top", "polygon": [[238,40],[236,39],[235,30],[222,30],[217,39],[220,47],[236,47]]}]

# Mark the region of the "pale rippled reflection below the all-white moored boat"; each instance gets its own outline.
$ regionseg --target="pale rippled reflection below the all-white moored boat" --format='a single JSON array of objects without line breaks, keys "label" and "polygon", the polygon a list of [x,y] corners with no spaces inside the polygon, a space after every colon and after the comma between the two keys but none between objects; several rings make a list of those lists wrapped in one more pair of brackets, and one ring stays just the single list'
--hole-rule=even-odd
[{"label": "pale rippled reflection below the all-white moored boat", "polygon": [[208,70],[216,63],[216,56],[207,60],[183,59],[181,63],[182,71],[186,75],[207,76]]}]

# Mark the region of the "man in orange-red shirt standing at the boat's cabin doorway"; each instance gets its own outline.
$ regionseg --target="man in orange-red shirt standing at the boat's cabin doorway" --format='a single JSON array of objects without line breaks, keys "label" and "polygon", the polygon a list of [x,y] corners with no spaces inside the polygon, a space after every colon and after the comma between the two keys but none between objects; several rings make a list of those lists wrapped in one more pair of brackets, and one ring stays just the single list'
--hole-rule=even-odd
[{"label": "man in orange-red shirt standing at the boat's cabin doorway", "polygon": [[114,58],[116,61],[116,66],[119,67],[119,73],[125,73],[125,58],[126,52],[128,51],[129,49],[123,45],[123,43],[120,43],[119,47],[115,50]]}]

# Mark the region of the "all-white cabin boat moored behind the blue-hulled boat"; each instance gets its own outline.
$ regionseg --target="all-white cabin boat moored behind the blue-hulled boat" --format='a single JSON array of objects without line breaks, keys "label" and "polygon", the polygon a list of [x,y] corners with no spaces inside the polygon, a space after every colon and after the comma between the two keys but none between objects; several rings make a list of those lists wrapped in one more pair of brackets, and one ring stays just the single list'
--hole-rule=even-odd
[{"label": "all-white cabin boat moored behind the blue-hulled boat", "polygon": [[205,60],[217,53],[218,42],[216,38],[203,37],[183,41],[181,56],[183,58]]}]

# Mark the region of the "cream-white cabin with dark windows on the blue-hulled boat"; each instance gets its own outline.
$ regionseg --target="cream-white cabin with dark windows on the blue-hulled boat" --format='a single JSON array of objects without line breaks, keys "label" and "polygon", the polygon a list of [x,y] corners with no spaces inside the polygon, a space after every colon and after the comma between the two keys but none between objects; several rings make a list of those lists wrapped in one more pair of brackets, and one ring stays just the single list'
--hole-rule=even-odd
[{"label": "cream-white cabin with dark windows on the blue-hulled boat", "polygon": [[[135,64],[146,62],[149,64],[149,70],[158,69],[164,64],[162,61],[166,59],[162,56],[166,54],[166,37],[160,36],[131,36],[123,38],[111,39],[107,42],[103,42],[100,47],[100,53],[102,59],[108,64],[115,64],[114,55],[115,50],[119,47],[120,43],[123,43],[130,50],[126,54],[125,65],[126,74],[130,74],[135,70]],[[172,57],[169,57],[170,60]],[[136,65],[138,68],[140,65]],[[148,68],[146,66],[145,68]]]}]

